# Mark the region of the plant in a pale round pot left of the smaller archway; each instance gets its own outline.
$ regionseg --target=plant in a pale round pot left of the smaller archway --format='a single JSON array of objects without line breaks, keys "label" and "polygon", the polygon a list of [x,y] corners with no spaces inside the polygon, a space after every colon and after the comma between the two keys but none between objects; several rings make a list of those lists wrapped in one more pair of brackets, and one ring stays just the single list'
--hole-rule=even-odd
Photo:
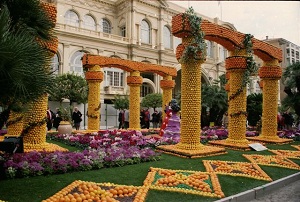
[{"label": "plant in a pale round pot left of the smaller archway", "polygon": [[71,107],[62,107],[59,108],[59,117],[61,121],[57,128],[59,134],[71,134],[72,133],[72,117],[71,117]]}]

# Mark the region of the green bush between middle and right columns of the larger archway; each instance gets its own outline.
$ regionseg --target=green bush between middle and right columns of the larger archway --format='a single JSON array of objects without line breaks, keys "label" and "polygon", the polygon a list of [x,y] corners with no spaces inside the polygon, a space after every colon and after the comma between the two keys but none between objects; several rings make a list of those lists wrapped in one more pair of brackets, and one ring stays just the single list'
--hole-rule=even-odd
[{"label": "green bush between middle and right columns of the larger archway", "polygon": [[247,120],[250,126],[256,126],[262,115],[262,101],[263,96],[261,93],[250,94],[247,96]]}]

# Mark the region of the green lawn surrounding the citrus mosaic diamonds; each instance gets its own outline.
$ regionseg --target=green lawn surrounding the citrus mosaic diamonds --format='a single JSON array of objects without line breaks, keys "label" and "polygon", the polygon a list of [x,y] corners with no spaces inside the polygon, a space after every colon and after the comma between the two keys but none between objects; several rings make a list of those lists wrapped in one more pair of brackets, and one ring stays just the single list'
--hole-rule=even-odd
[{"label": "green lawn surrounding the citrus mosaic diamonds", "polygon": [[[49,141],[50,142],[50,141]],[[78,150],[76,148],[65,146],[62,143],[51,141],[51,143],[66,147],[71,151]],[[300,142],[293,142],[293,145],[300,145]],[[269,149],[289,149],[296,150],[290,145],[266,145]],[[43,199],[54,195],[75,180],[84,180],[92,182],[111,182],[115,184],[141,186],[148,174],[150,167],[177,169],[177,170],[194,170],[205,171],[202,160],[223,160],[223,161],[244,161],[242,154],[262,154],[273,155],[269,151],[234,151],[227,150],[228,153],[219,156],[185,159],[172,155],[163,154],[162,160],[155,162],[147,162],[136,165],[128,165],[124,167],[103,168],[100,170],[72,172],[67,174],[59,174],[52,176],[38,176],[31,178],[2,180],[0,181],[0,200],[9,202],[40,202]],[[291,159],[300,165],[300,160]],[[260,166],[273,180],[277,180],[299,172],[287,168]],[[255,180],[245,177],[233,177],[226,175],[218,175],[221,187],[225,196],[234,195],[264,184],[267,181]],[[216,198],[202,197],[199,195],[183,194],[167,191],[150,190],[148,192],[147,202],[177,202],[177,201],[215,201]]]}]

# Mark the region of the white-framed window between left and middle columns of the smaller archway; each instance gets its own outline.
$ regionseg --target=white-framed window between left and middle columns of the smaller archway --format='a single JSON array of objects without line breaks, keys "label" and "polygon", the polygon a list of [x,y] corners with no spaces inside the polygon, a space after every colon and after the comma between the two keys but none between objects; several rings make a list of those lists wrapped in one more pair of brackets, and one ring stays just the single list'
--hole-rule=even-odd
[{"label": "white-framed window between left and middle columns of the smaller archway", "polygon": [[113,87],[124,86],[124,72],[117,68],[104,68],[105,85]]}]

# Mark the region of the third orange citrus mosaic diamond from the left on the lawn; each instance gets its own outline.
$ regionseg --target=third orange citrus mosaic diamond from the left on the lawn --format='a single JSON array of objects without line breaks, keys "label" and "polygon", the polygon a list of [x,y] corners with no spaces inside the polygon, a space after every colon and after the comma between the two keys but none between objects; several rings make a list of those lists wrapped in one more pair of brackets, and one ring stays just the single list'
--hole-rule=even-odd
[{"label": "third orange citrus mosaic diamond from the left on the lawn", "polygon": [[272,181],[272,179],[255,163],[203,160],[203,164],[208,172],[214,172],[216,174]]}]

